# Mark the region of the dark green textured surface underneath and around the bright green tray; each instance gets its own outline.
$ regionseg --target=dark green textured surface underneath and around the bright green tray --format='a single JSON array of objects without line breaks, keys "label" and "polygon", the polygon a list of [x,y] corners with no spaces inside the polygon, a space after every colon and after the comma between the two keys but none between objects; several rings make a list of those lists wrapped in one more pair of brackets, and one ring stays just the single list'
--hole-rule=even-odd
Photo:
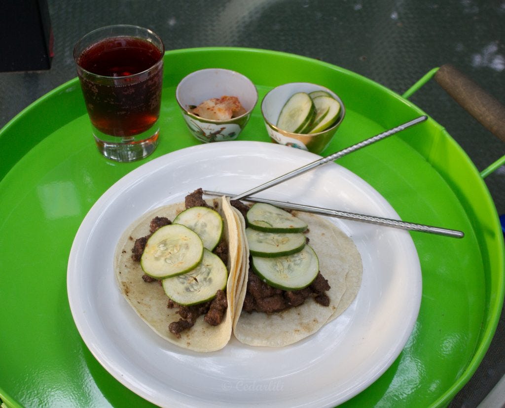
[{"label": "dark green textured surface underneath and around the bright green tray", "polygon": [[[505,103],[502,1],[49,0],[48,8],[54,32],[52,68],[0,73],[0,127],[74,78],[73,45],[85,33],[110,24],[151,28],[167,50],[239,46],[305,55],[359,73],[399,94],[432,68],[450,63]],[[505,144],[434,81],[411,100],[446,128],[479,171],[505,154]],[[505,166],[485,182],[498,214],[504,214]],[[451,406],[476,406],[503,376],[503,338],[502,317],[484,361]]]}]

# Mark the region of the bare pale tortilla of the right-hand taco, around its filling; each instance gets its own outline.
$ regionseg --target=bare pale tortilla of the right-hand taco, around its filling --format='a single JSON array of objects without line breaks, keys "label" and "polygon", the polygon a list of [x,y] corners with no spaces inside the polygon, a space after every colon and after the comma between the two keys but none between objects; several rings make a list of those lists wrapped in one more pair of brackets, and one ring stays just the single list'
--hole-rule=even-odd
[{"label": "bare pale tortilla of the right-hand taco, around its filling", "polygon": [[[318,331],[337,318],[358,294],[363,272],[356,245],[333,223],[321,216],[293,212],[309,225],[309,245],[319,258],[319,268],[331,288],[328,307],[312,298],[304,304],[280,313],[247,313],[235,315],[233,333],[242,343],[255,346],[282,347],[295,343]],[[247,251],[248,252],[248,251]],[[246,284],[240,298],[245,297]]]}]

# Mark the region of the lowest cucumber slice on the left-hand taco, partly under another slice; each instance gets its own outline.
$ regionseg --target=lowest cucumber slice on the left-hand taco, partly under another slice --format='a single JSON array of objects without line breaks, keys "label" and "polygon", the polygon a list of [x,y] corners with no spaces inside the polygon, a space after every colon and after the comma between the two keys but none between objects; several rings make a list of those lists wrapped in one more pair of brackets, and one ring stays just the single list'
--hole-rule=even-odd
[{"label": "lowest cucumber slice on the left-hand taco, partly under another slice", "polygon": [[183,306],[210,301],[226,287],[228,271],[223,261],[204,249],[201,262],[189,272],[163,279],[163,289],[175,303]]}]

